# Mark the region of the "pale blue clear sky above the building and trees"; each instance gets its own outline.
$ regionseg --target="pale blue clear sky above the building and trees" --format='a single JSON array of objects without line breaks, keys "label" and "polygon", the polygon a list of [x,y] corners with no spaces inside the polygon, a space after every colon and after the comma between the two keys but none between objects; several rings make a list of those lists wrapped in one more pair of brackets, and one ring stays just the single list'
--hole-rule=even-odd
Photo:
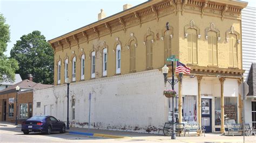
[{"label": "pale blue clear sky above the building and trees", "polygon": [[[255,0],[242,1],[256,7]],[[11,42],[5,54],[10,56],[16,41],[32,31],[41,31],[46,40],[51,40],[96,22],[100,9],[111,16],[123,11],[126,3],[135,6],[143,2],[146,0],[0,0],[0,12],[10,25],[11,32]]]}]

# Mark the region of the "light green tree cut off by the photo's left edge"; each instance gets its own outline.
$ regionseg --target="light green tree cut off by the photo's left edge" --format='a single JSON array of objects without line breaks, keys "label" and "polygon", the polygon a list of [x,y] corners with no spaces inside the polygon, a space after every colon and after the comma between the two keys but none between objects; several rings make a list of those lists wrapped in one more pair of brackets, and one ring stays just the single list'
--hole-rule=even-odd
[{"label": "light green tree cut off by the photo's left edge", "polygon": [[17,61],[4,55],[7,43],[10,42],[9,27],[5,24],[3,14],[0,13],[0,81],[14,81],[15,71],[18,69]]}]

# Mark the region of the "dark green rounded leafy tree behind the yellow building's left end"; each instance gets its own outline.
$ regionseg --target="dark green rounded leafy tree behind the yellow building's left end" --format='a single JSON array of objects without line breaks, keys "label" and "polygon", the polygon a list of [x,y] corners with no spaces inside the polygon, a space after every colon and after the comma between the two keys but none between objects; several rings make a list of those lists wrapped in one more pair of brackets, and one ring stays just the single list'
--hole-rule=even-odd
[{"label": "dark green rounded leafy tree behind the yellow building's left end", "polygon": [[53,83],[53,49],[40,31],[23,35],[16,41],[10,55],[18,61],[18,72],[23,79],[32,74],[35,82]]}]

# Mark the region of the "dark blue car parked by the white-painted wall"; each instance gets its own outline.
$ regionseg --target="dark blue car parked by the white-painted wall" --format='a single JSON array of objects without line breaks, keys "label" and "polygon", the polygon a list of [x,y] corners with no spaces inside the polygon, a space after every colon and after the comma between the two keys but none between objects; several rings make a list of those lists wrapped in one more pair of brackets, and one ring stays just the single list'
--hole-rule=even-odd
[{"label": "dark blue car parked by the white-painted wall", "polygon": [[63,121],[57,120],[52,116],[33,116],[22,122],[22,131],[24,134],[30,132],[40,132],[51,134],[51,132],[64,133],[66,125]]}]

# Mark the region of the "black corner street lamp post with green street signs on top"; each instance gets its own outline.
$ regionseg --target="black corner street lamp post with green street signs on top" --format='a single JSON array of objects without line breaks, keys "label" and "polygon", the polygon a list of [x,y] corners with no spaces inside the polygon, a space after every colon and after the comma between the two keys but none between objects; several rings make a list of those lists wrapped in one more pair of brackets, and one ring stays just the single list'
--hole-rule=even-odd
[{"label": "black corner street lamp post with green street signs on top", "polygon": [[[183,73],[179,73],[179,80],[174,80],[174,68],[173,68],[173,61],[172,61],[172,80],[167,80],[167,74],[169,73],[169,68],[164,65],[162,68],[162,73],[164,74],[164,81],[168,81],[171,86],[172,90],[174,90],[174,84],[178,83],[178,81],[182,81]],[[169,98],[170,101],[170,98]],[[171,102],[169,102],[171,103]],[[171,139],[176,139],[176,132],[175,132],[175,120],[174,120],[174,97],[172,97],[172,138]]]}]

